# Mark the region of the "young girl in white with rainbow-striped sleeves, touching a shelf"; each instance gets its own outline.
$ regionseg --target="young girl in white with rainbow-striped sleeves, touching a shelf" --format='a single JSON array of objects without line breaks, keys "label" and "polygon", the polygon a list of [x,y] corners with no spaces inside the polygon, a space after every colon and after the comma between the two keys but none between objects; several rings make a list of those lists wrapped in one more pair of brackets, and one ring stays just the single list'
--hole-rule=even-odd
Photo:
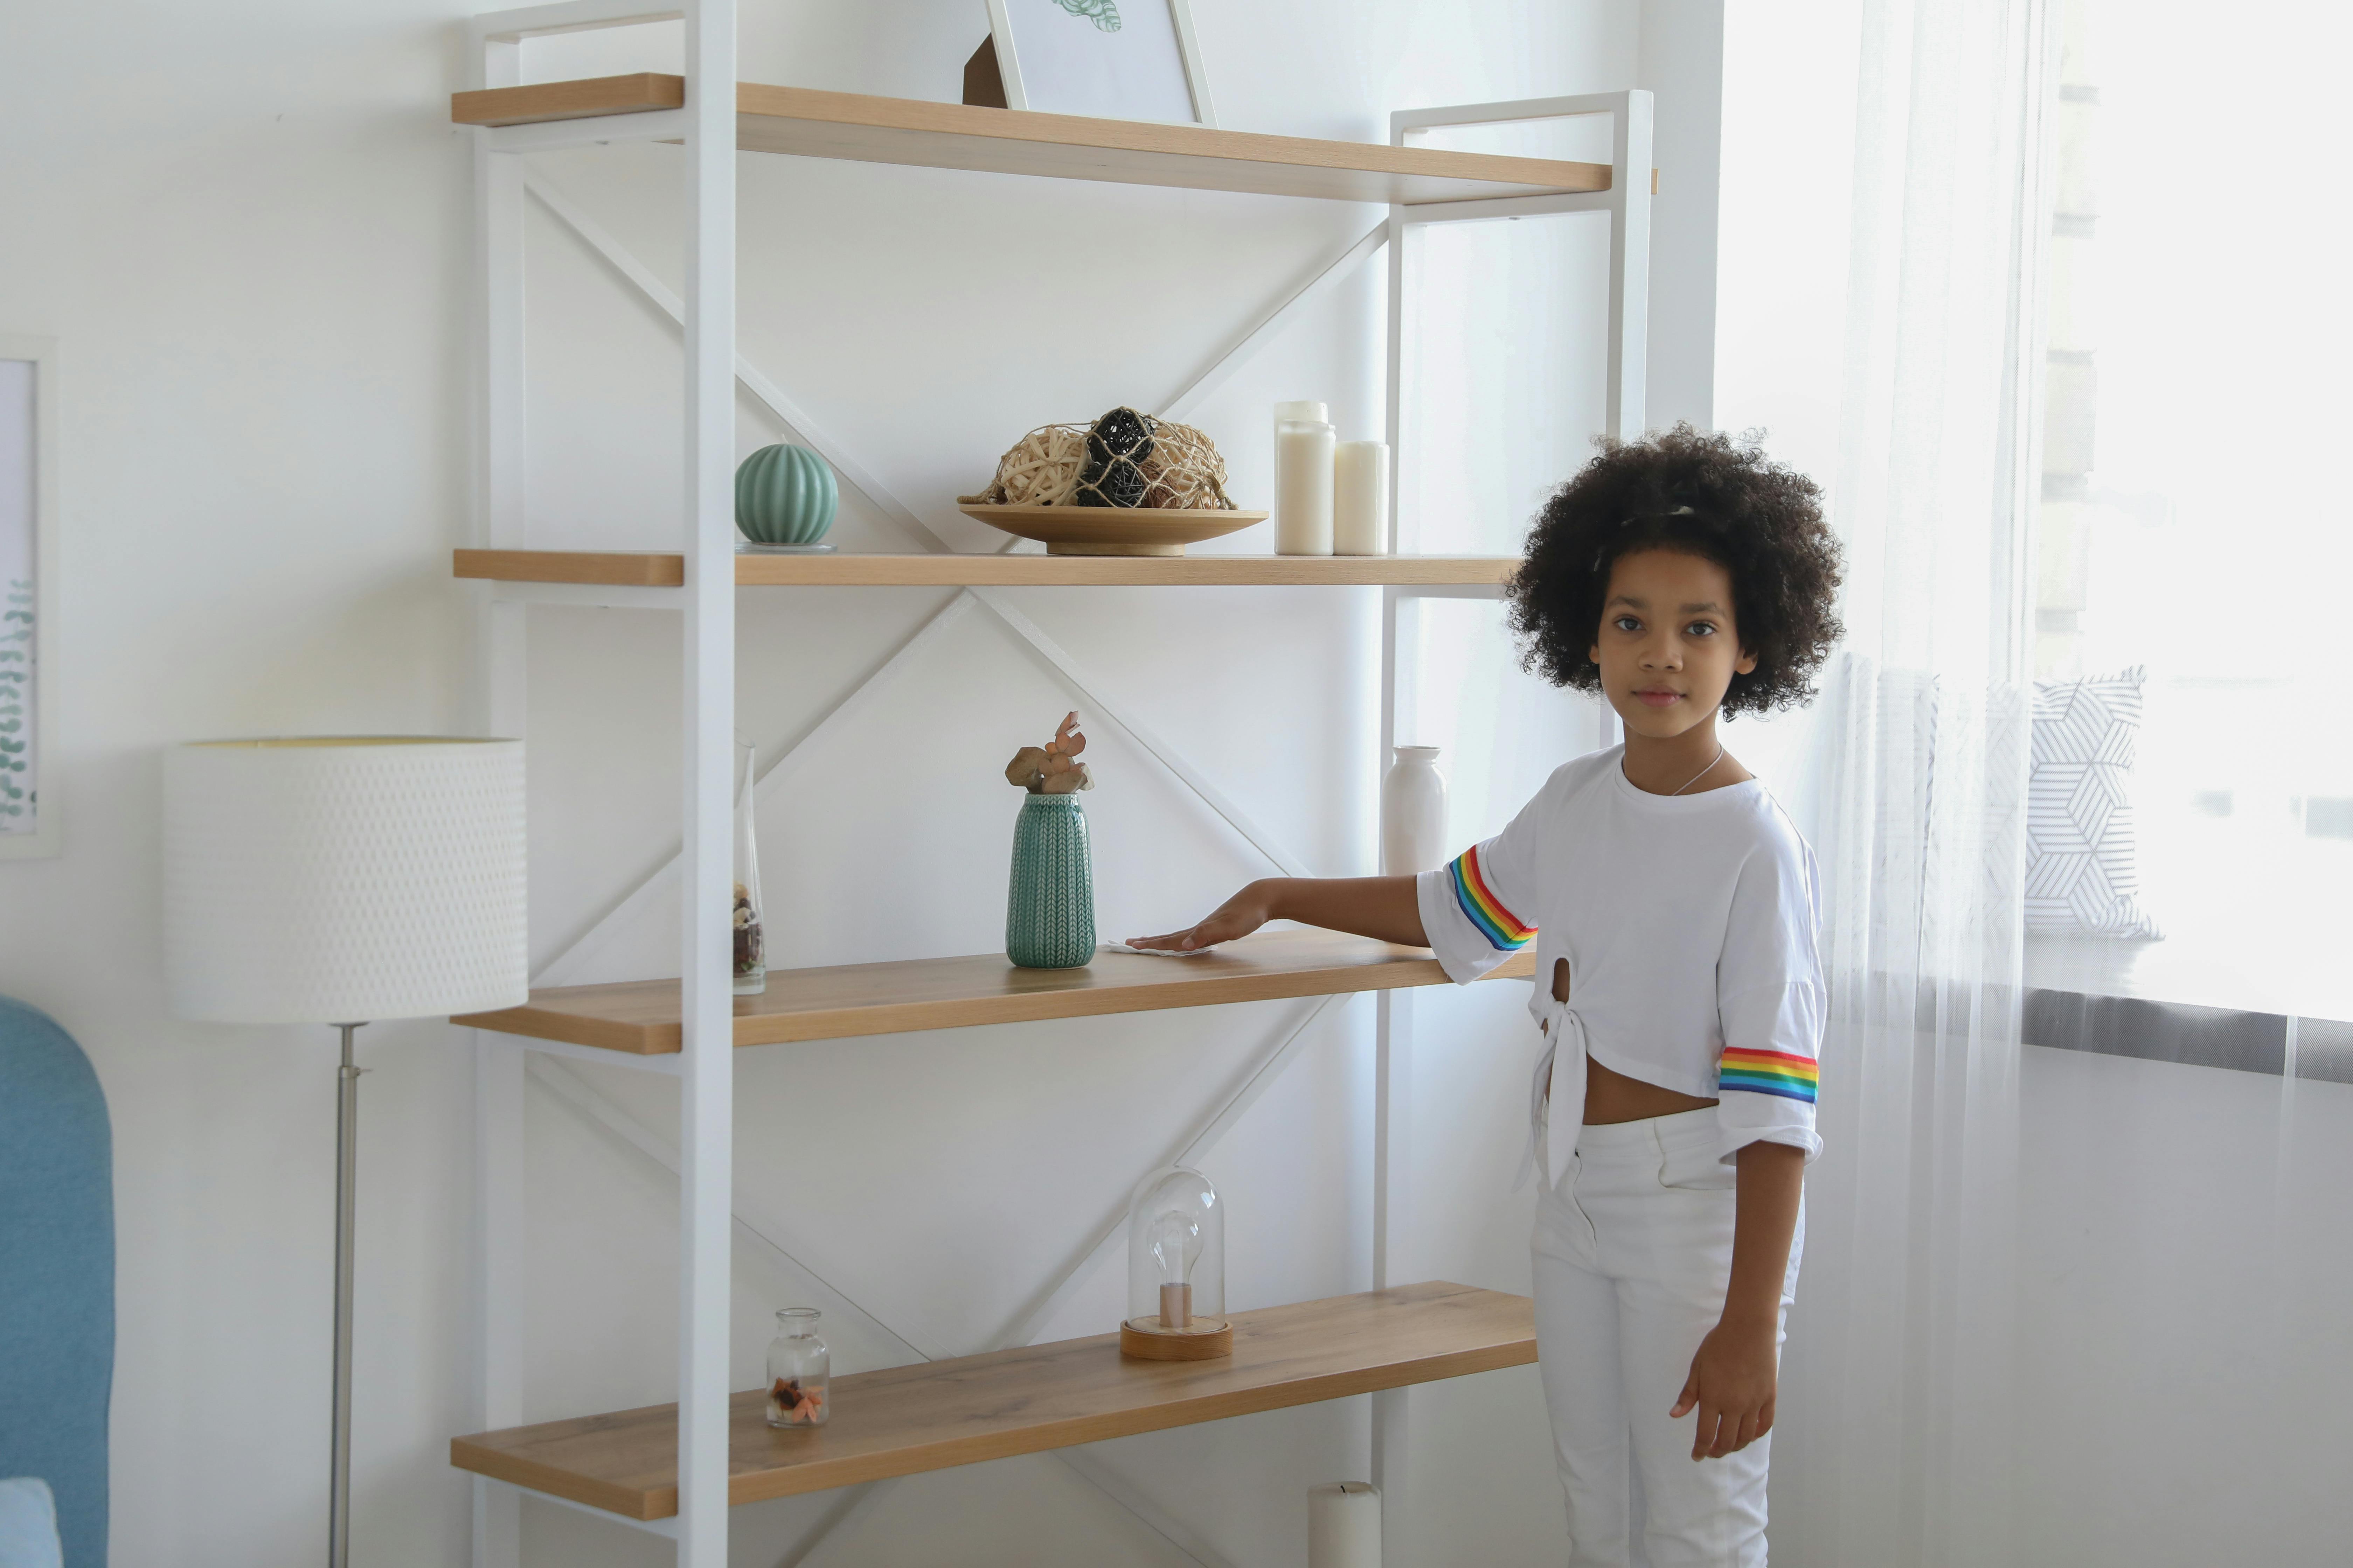
[{"label": "young girl in white with rainbow-striped sleeves, touching a shelf", "polygon": [[1525,663],[1626,743],[1560,766],[1421,877],[1252,882],[1205,947],[1297,919],[1438,952],[1468,983],[1534,943],[1537,1349],[1569,1561],[1765,1563],[1765,1467],[1802,1248],[1824,985],[1814,856],[1718,717],[1807,701],[1840,635],[1812,480],[1675,425],[1605,442],[1508,585]]}]

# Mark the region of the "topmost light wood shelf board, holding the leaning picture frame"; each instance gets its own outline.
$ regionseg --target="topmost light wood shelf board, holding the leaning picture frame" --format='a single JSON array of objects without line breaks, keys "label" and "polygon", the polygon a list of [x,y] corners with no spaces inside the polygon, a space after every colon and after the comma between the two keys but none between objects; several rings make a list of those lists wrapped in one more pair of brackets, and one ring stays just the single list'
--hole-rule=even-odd
[{"label": "topmost light wood shelf board, holding the leaning picture frame", "polygon": [[[449,118],[456,125],[539,125],[638,115],[685,101],[685,78],[635,73],[459,92],[449,94]],[[1605,162],[1261,136],[758,82],[736,85],[736,148],[1339,202],[1421,205],[1609,188]]]}]

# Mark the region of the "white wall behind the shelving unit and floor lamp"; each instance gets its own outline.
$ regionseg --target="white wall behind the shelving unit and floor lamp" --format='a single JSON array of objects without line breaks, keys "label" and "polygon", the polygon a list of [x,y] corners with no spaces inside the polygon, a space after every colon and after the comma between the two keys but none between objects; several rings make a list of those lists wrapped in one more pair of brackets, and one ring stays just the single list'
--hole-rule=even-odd
[{"label": "white wall behind the shelving unit and floor lamp", "polygon": [[[459,729],[480,712],[471,599],[447,578],[471,494],[471,158],[440,108],[461,82],[459,31],[454,7],[400,0],[19,9],[0,52],[0,143],[16,153],[0,190],[0,327],[56,334],[66,355],[56,736],[68,839],[59,860],[0,867],[0,987],[85,1041],[113,1105],[115,1561],[296,1561],[325,1516],[329,1037],[165,1016],[155,755],[221,733]],[[746,75],[953,96],[976,9],[779,0],[746,19]],[[1692,179],[1666,153],[1673,136],[1699,150],[1713,139],[1699,125],[1713,125],[1713,103],[1687,89],[1708,71],[1675,42],[1713,47],[1713,7],[1198,0],[1195,14],[1221,120],[1245,129],[1384,139],[1391,108],[1600,92],[1640,73],[1661,87],[1661,223],[1675,202],[1687,226],[1713,212],[1699,153]],[[555,54],[534,71],[569,75]],[[1699,120],[1671,136],[1678,115]],[[673,148],[539,167],[675,275]],[[1158,402],[1377,216],[793,160],[746,162],[741,179],[744,350],[967,543],[974,524],[948,498],[1024,428]],[[675,334],[544,212],[529,266],[534,534],[661,545],[678,494]],[[1475,282],[1489,263],[1466,266]],[[1675,277],[1661,310],[1678,289],[1697,301],[1675,317],[1689,334],[1713,273]],[[1073,313],[1073,282],[1111,308]],[[1374,433],[1379,303],[1369,268],[1200,411],[1240,494],[1266,491],[1275,397],[1325,395],[1348,435]],[[1678,364],[1661,407],[1704,409],[1704,362],[1685,348]],[[1466,386],[1482,395],[1480,376],[1506,371],[1548,386],[1511,364],[1466,371]],[[1591,367],[1569,360],[1562,376]],[[1579,433],[1548,409],[1499,418],[1565,435],[1574,451]],[[774,435],[746,404],[744,444]],[[1468,522],[1508,541],[1534,487]],[[908,548],[856,503],[840,538]],[[1012,599],[1306,863],[1369,867],[1369,592]],[[744,595],[741,722],[762,759],[944,602]],[[539,961],[567,952],[675,842],[675,658],[661,616],[532,611]],[[1471,668],[1435,672],[1433,724],[1457,686],[1475,684]],[[1513,701],[1548,715],[1562,745],[1577,733],[1558,698],[1544,708],[1520,689]],[[779,773],[760,825],[784,961],[995,947],[1014,809],[998,766],[1068,705],[1024,644],[967,614],[840,745]],[[1148,759],[1101,731],[1099,748],[1089,813],[1108,933],[1195,914],[1264,870]],[[1504,790],[1489,780],[1475,795]],[[659,900],[607,936],[602,973],[668,971]],[[1525,1288],[1525,1197],[1504,1194],[1532,1048],[1518,1001],[1501,985],[1414,1004],[1405,1276]],[[746,1218],[791,1232],[807,1262],[901,1333],[972,1349],[1301,1011],[746,1053]],[[445,1441],[473,1418],[471,1060],[464,1037],[431,1023],[367,1030],[362,1060],[358,1554],[456,1563],[471,1493]],[[673,1187],[574,1110],[581,1086],[656,1133],[668,1126],[654,1081],[593,1067],[532,1081],[534,1418],[671,1394]],[[1355,1001],[1315,1025],[1297,1067],[1207,1157],[1235,1213],[1235,1307],[1367,1284],[1367,1110],[1369,1001]],[[755,1380],[765,1314],[802,1298],[831,1302],[769,1253],[739,1248],[739,1382]],[[1115,1314],[1115,1276],[1096,1279],[1047,1333],[1094,1333]],[[845,1368],[906,1354],[845,1312],[828,1321],[840,1321]],[[1532,1375],[1431,1389],[1414,1410],[1426,1434],[1417,1530],[1431,1549],[1558,1556]],[[1299,1490],[1365,1474],[1365,1441],[1362,1401],[1341,1401],[1096,1455],[1231,1559],[1287,1561],[1301,1549]],[[741,1509],[739,1561],[776,1561],[819,1509]],[[553,1507],[532,1505],[525,1530],[534,1563],[666,1561],[659,1542]],[[833,1561],[1174,1561],[1042,1458],[908,1481],[842,1547]]]}]

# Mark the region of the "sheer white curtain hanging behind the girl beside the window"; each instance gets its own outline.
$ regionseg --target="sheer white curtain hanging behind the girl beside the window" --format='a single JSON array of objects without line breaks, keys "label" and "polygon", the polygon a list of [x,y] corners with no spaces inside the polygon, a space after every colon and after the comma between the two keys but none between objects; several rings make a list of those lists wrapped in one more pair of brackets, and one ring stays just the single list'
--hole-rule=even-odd
[{"label": "sheer white curtain hanging behind the girl beside the window", "polygon": [[2038,0],[1864,0],[1814,724],[1826,1154],[1774,1439],[1774,1556],[1991,1568],[2009,1542],[2026,703],[2019,287]]}]

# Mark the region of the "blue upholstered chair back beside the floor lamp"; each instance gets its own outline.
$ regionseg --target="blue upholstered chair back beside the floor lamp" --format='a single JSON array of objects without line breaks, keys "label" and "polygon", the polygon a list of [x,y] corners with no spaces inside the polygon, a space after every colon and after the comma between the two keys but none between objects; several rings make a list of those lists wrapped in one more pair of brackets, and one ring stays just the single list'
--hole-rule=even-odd
[{"label": "blue upholstered chair back beside the floor lamp", "polygon": [[66,1568],[106,1563],[113,1380],[106,1095],[71,1034],[0,997],[0,1476],[49,1483]]}]

